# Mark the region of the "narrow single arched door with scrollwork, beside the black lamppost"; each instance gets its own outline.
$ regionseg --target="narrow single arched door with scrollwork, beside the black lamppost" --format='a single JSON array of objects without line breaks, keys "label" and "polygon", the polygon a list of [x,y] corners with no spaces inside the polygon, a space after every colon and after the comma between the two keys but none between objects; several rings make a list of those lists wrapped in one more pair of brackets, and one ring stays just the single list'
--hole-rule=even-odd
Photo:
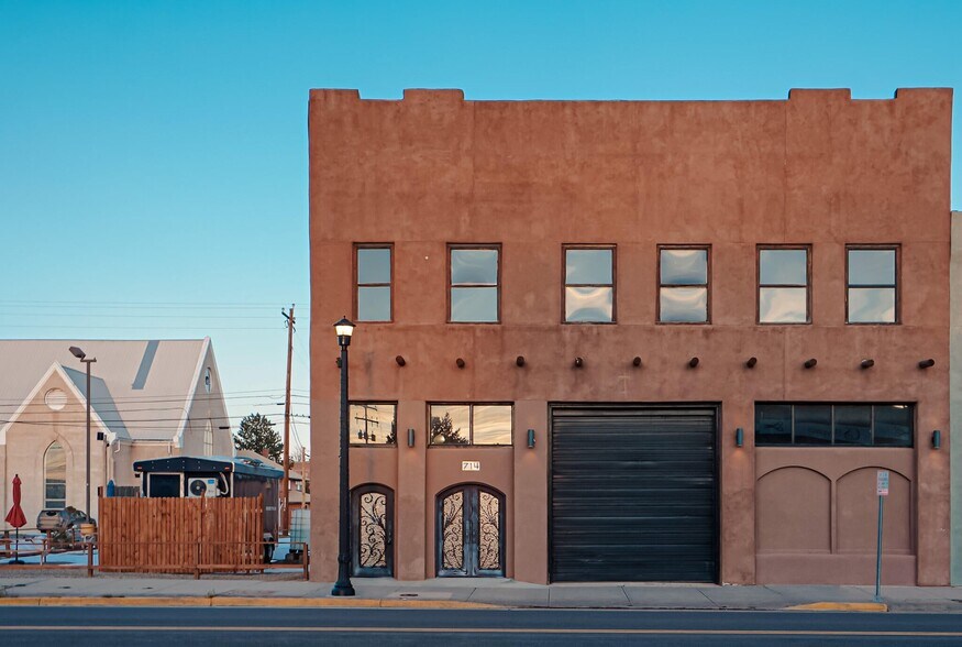
[{"label": "narrow single arched door with scrollwork, beside the black lamppost", "polygon": [[394,491],[368,483],[351,492],[354,574],[394,577]]}]

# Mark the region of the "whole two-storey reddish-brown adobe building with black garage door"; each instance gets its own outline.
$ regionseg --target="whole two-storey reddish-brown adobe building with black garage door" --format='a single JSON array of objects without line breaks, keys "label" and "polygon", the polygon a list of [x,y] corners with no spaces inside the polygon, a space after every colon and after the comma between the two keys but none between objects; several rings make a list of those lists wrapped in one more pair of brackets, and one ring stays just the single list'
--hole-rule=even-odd
[{"label": "whole two-storey reddish-brown adobe building with black garage door", "polygon": [[949,583],[949,89],[310,96],[312,578]]}]

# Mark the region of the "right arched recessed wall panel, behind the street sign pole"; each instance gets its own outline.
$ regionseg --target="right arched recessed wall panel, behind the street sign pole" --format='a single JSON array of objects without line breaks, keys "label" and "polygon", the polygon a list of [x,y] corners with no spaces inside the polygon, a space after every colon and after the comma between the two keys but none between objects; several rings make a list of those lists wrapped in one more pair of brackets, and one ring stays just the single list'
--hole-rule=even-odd
[{"label": "right arched recessed wall panel, behind the street sign pole", "polygon": [[[878,540],[876,474],[881,468],[861,468],[838,481],[839,551],[874,552]],[[888,496],[882,515],[882,551],[910,555],[911,481],[888,471]]]}]

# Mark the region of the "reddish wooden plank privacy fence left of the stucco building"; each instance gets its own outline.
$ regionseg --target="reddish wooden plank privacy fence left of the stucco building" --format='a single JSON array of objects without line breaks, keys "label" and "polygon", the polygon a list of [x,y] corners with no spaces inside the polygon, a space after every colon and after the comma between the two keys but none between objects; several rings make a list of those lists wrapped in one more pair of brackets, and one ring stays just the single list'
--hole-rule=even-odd
[{"label": "reddish wooden plank privacy fence left of the stucco building", "polygon": [[100,570],[263,570],[263,497],[101,498]]}]

